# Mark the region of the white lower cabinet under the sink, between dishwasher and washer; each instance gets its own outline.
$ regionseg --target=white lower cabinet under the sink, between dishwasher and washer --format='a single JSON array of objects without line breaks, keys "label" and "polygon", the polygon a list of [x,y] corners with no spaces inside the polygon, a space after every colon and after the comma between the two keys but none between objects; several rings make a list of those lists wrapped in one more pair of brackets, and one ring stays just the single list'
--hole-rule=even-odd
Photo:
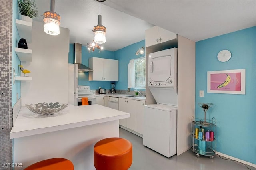
[{"label": "white lower cabinet under the sink, between dishwasher and washer", "polygon": [[145,101],[119,98],[119,110],[130,113],[130,117],[120,119],[119,124],[134,132],[143,134],[143,113]]}]

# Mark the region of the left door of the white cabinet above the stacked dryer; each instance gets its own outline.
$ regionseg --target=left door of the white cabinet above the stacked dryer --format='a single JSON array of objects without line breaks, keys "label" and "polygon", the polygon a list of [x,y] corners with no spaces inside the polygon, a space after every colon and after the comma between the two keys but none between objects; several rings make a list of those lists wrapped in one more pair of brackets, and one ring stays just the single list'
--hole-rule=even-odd
[{"label": "left door of the white cabinet above the stacked dryer", "polygon": [[150,47],[158,43],[159,27],[154,26],[145,31],[145,46]]}]

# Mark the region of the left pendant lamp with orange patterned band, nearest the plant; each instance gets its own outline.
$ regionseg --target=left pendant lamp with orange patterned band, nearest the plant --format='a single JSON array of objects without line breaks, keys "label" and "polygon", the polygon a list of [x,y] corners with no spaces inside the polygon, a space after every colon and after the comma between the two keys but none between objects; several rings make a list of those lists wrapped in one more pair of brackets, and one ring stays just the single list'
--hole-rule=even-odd
[{"label": "left pendant lamp with orange patterned band, nearest the plant", "polygon": [[54,12],[54,0],[51,0],[51,10],[44,12],[44,32],[53,36],[60,34],[60,15]]}]

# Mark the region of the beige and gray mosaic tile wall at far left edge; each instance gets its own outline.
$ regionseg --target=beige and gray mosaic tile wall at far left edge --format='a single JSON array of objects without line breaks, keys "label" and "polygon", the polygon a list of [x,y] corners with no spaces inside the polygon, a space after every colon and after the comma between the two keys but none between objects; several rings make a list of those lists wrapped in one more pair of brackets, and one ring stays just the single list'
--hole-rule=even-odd
[{"label": "beige and gray mosaic tile wall at far left edge", "polygon": [[0,163],[12,164],[12,0],[0,0]]}]

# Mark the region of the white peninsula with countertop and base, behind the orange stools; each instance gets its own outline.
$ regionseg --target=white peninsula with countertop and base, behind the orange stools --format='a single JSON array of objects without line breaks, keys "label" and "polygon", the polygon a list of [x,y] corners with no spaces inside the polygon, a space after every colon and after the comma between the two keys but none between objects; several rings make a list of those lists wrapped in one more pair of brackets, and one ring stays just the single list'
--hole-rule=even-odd
[{"label": "white peninsula with countertop and base, behind the orange stools", "polygon": [[73,106],[54,115],[37,115],[21,107],[10,138],[14,163],[26,166],[48,158],[66,158],[75,170],[94,170],[93,147],[103,138],[119,136],[119,119],[129,113],[101,105]]}]

